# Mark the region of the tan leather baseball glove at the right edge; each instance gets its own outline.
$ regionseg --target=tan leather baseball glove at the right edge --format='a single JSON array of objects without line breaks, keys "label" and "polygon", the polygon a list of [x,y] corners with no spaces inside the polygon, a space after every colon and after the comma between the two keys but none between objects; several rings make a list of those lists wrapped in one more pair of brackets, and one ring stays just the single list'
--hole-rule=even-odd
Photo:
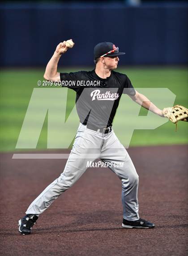
[{"label": "tan leather baseball glove at the right edge", "polygon": [[188,122],[188,109],[180,105],[175,105],[171,108],[163,108],[162,114],[176,124],[176,130],[178,121]]}]

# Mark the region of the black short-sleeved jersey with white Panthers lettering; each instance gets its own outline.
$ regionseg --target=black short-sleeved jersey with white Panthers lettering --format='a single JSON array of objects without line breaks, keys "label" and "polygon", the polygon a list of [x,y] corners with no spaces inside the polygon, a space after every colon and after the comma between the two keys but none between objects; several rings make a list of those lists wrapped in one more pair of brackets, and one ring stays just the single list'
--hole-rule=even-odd
[{"label": "black short-sleeved jersey with white Panthers lettering", "polygon": [[76,91],[76,107],[80,122],[99,128],[112,125],[122,93],[135,95],[128,76],[111,71],[106,79],[95,70],[60,73],[62,86]]}]

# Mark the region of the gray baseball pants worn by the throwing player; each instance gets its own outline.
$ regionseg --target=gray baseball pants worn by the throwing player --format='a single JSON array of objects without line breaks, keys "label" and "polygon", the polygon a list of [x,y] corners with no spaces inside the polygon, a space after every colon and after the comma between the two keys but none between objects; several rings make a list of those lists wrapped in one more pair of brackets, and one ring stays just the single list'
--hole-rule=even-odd
[{"label": "gray baseball pants worn by the throwing player", "polygon": [[[87,169],[87,161],[100,158],[122,182],[123,217],[138,220],[138,175],[127,150],[114,131],[103,134],[80,124],[63,173],[30,204],[26,214],[43,213],[61,193],[73,186]],[[120,164],[121,163],[121,164]],[[111,165],[110,165],[111,164]],[[117,167],[120,166],[120,167]]]}]

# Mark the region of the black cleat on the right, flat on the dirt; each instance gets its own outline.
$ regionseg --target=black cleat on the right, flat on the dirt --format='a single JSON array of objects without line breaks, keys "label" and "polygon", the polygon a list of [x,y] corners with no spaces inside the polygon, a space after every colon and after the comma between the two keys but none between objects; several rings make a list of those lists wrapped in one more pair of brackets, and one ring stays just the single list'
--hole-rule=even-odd
[{"label": "black cleat on the right, flat on the dirt", "polygon": [[153,229],[155,227],[154,223],[151,223],[150,221],[139,219],[135,221],[125,220],[123,219],[122,223],[123,228],[137,228],[137,229]]}]

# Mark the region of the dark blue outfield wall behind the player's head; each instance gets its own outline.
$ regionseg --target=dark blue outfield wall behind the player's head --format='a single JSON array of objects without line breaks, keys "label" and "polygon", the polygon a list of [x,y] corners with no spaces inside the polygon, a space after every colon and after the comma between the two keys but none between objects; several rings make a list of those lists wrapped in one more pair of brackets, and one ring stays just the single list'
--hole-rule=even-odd
[{"label": "dark blue outfield wall behind the player's head", "polygon": [[112,41],[124,65],[187,64],[188,5],[1,4],[0,65],[43,66],[56,45],[75,47],[60,65],[92,65],[94,45]]}]

